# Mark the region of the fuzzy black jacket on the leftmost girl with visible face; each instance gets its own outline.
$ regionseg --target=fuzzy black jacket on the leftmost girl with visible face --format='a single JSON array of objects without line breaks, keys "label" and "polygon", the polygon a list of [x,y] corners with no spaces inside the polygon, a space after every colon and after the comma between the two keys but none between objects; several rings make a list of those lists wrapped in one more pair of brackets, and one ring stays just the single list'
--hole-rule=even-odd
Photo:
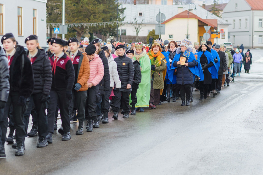
[{"label": "fuzzy black jacket on the leftmost girl with visible face", "polygon": [[[24,64],[22,64],[24,55]],[[28,98],[34,89],[34,77],[31,62],[24,47],[16,45],[16,53],[9,69],[10,92],[19,92],[20,96]]]}]

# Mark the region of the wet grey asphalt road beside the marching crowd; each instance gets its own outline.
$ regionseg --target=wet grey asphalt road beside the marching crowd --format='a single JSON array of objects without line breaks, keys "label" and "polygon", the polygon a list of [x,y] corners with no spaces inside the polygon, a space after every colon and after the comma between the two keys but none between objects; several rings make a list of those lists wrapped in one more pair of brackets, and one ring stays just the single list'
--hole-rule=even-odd
[{"label": "wet grey asphalt road beside the marching crowd", "polygon": [[115,121],[111,112],[108,124],[79,136],[72,123],[71,140],[56,131],[52,144],[36,148],[37,137],[26,138],[20,157],[6,144],[0,174],[263,174],[262,66],[242,69],[216,97],[199,101],[194,92],[189,107],[163,102]]}]

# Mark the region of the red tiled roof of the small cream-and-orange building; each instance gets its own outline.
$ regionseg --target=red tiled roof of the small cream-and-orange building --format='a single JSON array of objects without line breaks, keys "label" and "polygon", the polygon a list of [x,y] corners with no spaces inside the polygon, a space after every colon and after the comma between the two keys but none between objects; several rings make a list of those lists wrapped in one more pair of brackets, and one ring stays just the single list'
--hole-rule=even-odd
[{"label": "red tiled roof of the small cream-and-orange building", "polygon": [[[166,21],[164,21],[162,24],[165,24],[175,18],[187,18],[188,14],[187,14],[187,10],[181,12],[181,13],[178,13],[177,15],[173,16],[172,18],[170,19],[167,19]],[[206,23],[208,26],[211,26],[213,28],[216,28],[217,27],[217,19],[202,19],[200,17],[198,17],[197,15],[195,15],[194,13],[192,12],[189,12],[189,18],[195,18],[195,19],[198,19],[204,23]]]}]

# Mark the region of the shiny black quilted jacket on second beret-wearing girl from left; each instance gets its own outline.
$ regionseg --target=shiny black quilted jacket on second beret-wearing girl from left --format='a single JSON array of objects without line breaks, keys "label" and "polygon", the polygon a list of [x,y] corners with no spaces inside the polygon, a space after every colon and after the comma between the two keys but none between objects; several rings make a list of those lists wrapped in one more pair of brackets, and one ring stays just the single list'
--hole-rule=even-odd
[{"label": "shiny black quilted jacket on second beret-wearing girl from left", "polygon": [[[52,84],[52,68],[48,55],[43,49],[37,49],[36,60],[32,64],[34,73],[34,91],[33,94],[43,93],[48,96]],[[27,51],[27,55],[29,52]]]}]

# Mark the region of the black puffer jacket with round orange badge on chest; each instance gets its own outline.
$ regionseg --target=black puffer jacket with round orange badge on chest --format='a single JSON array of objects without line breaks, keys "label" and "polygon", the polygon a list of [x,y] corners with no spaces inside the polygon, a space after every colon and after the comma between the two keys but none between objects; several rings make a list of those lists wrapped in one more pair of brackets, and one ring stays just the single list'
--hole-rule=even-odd
[{"label": "black puffer jacket with round orange badge on chest", "polygon": [[119,78],[121,81],[121,89],[123,92],[131,92],[131,88],[127,89],[127,84],[132,85],[134,76],[134,67],[132,60],[124,54],[114,59],[117,63]]}]

